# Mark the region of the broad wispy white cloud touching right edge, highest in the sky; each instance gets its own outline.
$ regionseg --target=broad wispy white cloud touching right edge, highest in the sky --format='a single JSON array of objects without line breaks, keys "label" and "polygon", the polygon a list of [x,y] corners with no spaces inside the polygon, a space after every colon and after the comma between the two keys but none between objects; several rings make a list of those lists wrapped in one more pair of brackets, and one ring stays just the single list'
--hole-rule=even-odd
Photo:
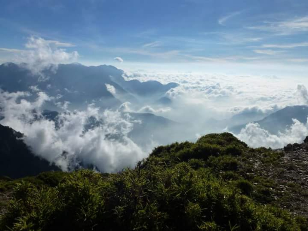
[{"label": "broad wispy white cloud touching right edge, highest in the sky", "polygon": [[260,26],[250,26],[248,29],[269,31],[278,35],[297,34],[308,31],[308,16],[291,18],[277,22],[263,22]]}]

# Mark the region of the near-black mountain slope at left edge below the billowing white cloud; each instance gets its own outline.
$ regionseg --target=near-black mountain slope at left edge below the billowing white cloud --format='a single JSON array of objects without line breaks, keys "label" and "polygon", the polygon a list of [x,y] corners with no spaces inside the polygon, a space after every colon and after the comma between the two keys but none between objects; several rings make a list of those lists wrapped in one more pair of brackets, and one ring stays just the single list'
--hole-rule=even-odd
[{"label": "near-black mountain slope at left edge below the billowing white cloud", "polygon": [[18,178],[60,170],[47,160],[34,156],[22,136],[20,132],[0,124],[0,176]]}]

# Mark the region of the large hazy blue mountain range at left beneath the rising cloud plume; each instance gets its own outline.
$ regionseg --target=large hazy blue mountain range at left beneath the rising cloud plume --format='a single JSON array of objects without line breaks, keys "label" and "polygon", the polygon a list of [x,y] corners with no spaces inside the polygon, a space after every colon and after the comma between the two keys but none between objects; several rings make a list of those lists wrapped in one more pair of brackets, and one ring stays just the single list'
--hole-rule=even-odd
[{"label": "large hazy blue mountain range at left beneath the rising cloud plume", "polygon": [[50,96],[70,102],[73,109],[92,102],[101,107],[114,107],[119,106],[121,101],[137,102],[143,97],[157,100],[178,86],[176,83],[164,85],[157,81],[126,81],[124,71],[116,67],[87,67],[76,63],[59,64],[56,71],[54,68],[46,69],[42,72],[44,81],[39,81],[40,76],[32,74],[24,66],[15,63],[0,65],[0,88],[16,92],[30,91],[30,87],[36,86]]}]

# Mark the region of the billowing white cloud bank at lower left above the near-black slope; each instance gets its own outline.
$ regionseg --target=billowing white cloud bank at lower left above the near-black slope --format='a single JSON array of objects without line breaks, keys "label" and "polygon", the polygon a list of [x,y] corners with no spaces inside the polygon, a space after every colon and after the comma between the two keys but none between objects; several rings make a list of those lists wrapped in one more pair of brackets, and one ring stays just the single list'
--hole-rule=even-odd
[{"label": "billowing white cloud bank at lower left above the near-black slope", "polygon": [[[146,154],[131,139],[128,132],[133,122],[120,111],[106,110],[89,105],[84,111],[66,111],[55,122],[41,116],[42,106],[51,97],[43,92],[31,101],[26,92],[0,92],[1,124],[25,134],[24,141],[33,152],[69,170],[78,165],[95,164],[103,172],[115,172],[133,166]],[[65,102],[64,102],[65,104]],[[33,113],[36,113],[34,119]],[[96,127],[85,130],[90,118],[101,121]],[[63,155],[63,151],[67,153]]]}]

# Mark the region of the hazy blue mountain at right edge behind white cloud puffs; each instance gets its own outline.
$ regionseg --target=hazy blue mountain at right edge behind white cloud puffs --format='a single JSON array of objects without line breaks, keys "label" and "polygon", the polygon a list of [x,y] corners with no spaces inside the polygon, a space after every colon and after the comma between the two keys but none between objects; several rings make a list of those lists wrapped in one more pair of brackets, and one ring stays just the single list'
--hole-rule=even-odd
[{"label": "hazy blue mountain at right edge behind white cloud puffs", "polygon": [[[293,124],[292,119],[296,119],[301,123],[306,124],[308,116],[308,106],[288,106],[279,111],[271,113],[262,120],[253,121],[258,123],[261,128],[269,131],[272,134],[277,134],[278,131],[284,131]],[[229,128],[229,131],[233,133],[241,132],[242,128],[245,128],[246,124],[241,124]]]}]

